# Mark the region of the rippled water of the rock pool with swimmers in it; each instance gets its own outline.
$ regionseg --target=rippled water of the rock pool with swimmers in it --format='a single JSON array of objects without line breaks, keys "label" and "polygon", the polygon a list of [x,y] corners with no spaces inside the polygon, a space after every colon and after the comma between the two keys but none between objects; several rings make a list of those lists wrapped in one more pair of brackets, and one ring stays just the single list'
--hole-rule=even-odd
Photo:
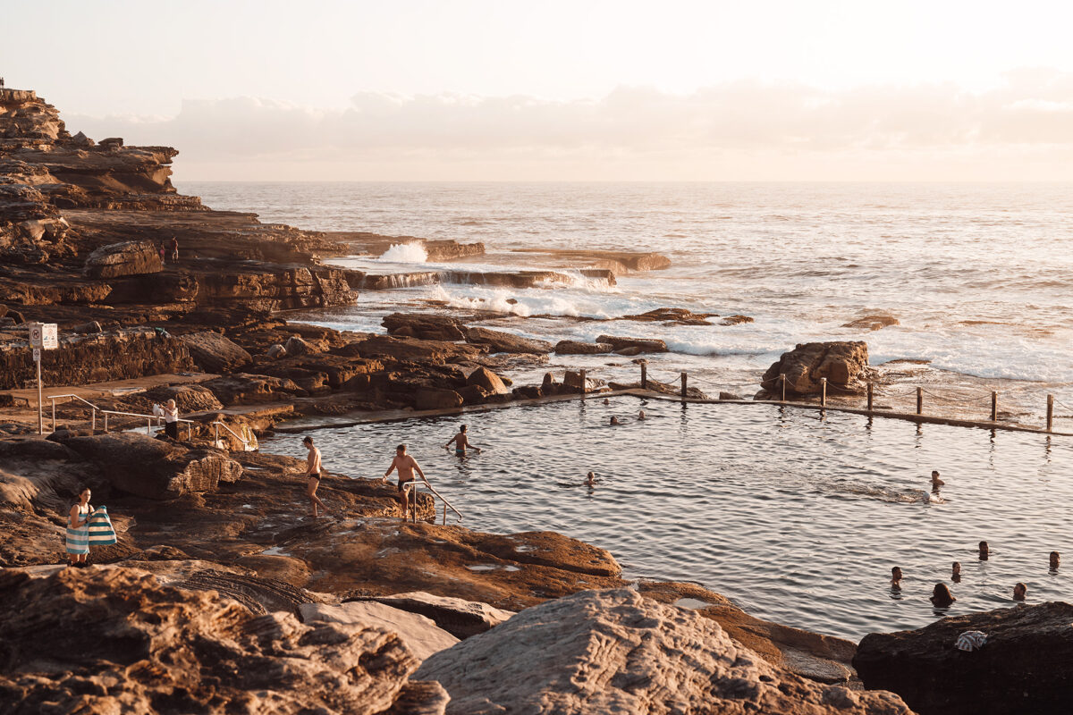
[{"label": "rippled water of the rock pool with swimmers in it", "polygon": [[[637,421],[642,406],[648,419]],[[623,424],[609,427],[612,415]],[[443,449],[460,421],[484,453]],[[695,581],[754,615],[854,640],[1012,606],[1017,581],[1028,602],[1070,596],[1070,438],[635,398],[314,436],[329,472],[368,478],[406,442],[470,528],[561,532],[609,550],[628,577]],[[305,456],[296,435],[264,447]],[[589,470],[594,489],[583,483]],[[931,470],[946,482],[941,500]],[[989,561],[976,558],[981,540]],[[1052,550],[1069,551],[1055,574]],[[928,601],[939,581],[957,597],[949,611]]]}]

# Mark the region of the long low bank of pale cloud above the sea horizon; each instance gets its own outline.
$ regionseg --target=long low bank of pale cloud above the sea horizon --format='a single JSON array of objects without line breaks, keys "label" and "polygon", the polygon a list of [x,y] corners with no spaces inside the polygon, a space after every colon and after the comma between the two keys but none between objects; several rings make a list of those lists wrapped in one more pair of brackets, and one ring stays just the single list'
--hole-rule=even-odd
[{"label": "long low bank of pale cloud above the sea horizon", "polygon": [[68,124],[175,146],[196,178],[1073,179],[1071,119],[1073,74],[1020,70],[975,93],[756,80],[572,102],[359,92],[343,109],[187,100],[172,118]]}]

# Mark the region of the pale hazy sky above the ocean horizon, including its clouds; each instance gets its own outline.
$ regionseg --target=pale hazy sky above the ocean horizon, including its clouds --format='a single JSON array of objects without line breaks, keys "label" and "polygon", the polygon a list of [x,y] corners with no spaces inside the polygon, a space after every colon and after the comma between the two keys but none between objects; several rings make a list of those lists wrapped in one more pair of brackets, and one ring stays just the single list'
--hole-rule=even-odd
[{"label": "pale hazy sky above the ocean horizon, including its clouds", "polygon": [[181,180],[1073,180],[1073,3],[6,3],[0,76]]}]

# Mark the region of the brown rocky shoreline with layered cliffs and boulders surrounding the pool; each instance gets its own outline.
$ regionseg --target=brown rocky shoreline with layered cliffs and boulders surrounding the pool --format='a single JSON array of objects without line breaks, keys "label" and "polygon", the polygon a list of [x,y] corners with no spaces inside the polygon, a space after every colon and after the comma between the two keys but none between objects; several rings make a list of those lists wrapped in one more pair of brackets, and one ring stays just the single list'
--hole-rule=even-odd
[{"label": "brown rocky shoreline with layered cliffs and boulders surrounding the pool", "polygon": [[[321,494],[333,513],[304,516],[300,465],[247,451],[236,435],[303,415],[640,387],[578,372],[514,385],[503,373],[540,371],[553,353],[641,361],[666,345],[614,334],[552,344],[473,325],[497,315],[480,311],[388,315],[387,334],[289,323],[281,312],[444,274],[325,265],[400,239],[214,211],[172,187],[177,153],[71,135],[33,92],[0,90],[0,700],[18,703],[12,712],[911,712],[898,695],[862,689],[854,662],[874,658],[854,643],[755,619],[694,584],[628,582],[612,554],[560,534],[437,524],[428,494],[420,521],[400,521],[394,488],[332,474]],[[413,240],[443,262],[484,252]],[[608,282],[665,267],[657,254],[550,258]],[[458,274],[509,285],[558,275]],[[47,438],[34,434],[33,321],[60,326],[61,348],[42,360],[47,384],[133,381],[93,404],[145,414],[175,399],[189,434],[102,434],[94,409],[73,401],[57,406]],[[825,377],[859,392],[869,370],[863,343],[808,344],[758,387],[808,397]],[[108,505],[118,543],[94,550],[87,569],[64,568],[63,515],[82,485]],[[968,689],[936,710],[934,695],[884,677],[863,685],[888,682],[921,713],[1002,712],[971,710]],[[1047,692],[1039,702],[1057,701]]]}]

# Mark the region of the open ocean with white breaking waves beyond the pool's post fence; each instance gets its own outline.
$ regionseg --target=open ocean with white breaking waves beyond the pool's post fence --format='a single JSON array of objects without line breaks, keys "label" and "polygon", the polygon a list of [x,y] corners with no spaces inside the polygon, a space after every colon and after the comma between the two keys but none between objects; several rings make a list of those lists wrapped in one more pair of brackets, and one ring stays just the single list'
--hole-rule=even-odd
[{"label": "open ocean with white breaking waves beyond the pool's post fence", "polygon": [[[483,262],[499,270],[532,267],[532,256],[511,253],[532,248],[652,251],[673,264],[619,277],[616,286],[577,275],[571,285],[527,289],[452,284],[370,293],[353,309],[309,316],[334,327],[380,331],[380,318],[400,306],[499,309],[518,319],[496,327],[553,342],[601,332],[662,338],[672,353],[650,368],[661,378],[688,370],[702,389],[747,396],[796,343],[864,340],[873,364],[911,366],[906,384],[954,390],[954,403],[979,407],[981,416],[991,389],[1003,391],[1006,416],[1023,422],[1038,421],[1053,393],[1056,426],[1073,428],[1071,184],[181,182],[178,189],[212,208],[300,228],[483,241]],[[386,271],[425,267],[417,265],[420,251],[387,258],[342,263]],[[753,322],[570,319],[661,307]],[[899,325],[843,327],[871,314],[893,315]],[[597,369],[606,360],[573,362]],[[608,377],[632,370],[606,368]]]}]

